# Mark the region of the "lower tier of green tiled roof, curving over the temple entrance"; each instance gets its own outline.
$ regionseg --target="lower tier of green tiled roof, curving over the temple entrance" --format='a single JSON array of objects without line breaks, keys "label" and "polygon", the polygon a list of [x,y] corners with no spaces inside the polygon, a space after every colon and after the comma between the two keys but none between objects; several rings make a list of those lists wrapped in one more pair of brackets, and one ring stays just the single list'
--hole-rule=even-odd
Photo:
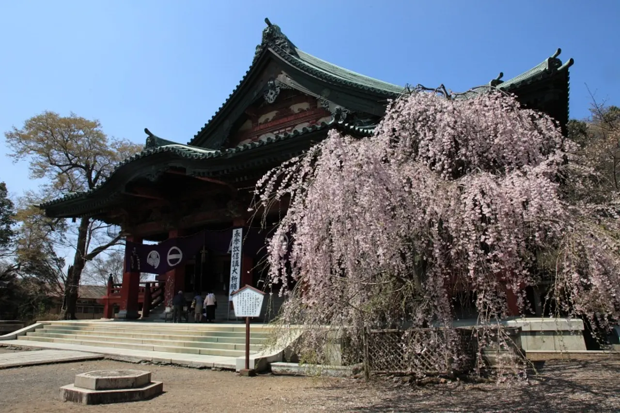
[{"label": "lower tier of green tiled roof, curving over the temple entrance", "polygon": [[175,143],[172,141],[164,140],[162,138],[154,136],[148,130],[145,130],[149,134],[149,138],[147,139],[147,146],[145,147],[145,149],[141,151],[140,153],[130,156],[130,158],[124,159],[122,162],[120,162],[114,168],[114,170],[112,171],[112,174],[110,174],[110,176],[107,179],[105,179],[101,184],[97,185],[97,187],[95,187],[94,189],[88,190],[88,191],[68,193],[64,197],[56,198],[55,200],[51,200],[50,202],[42,203],[39,206],[41,208],[48,208],[48,207],[52,207],[54,205],[58,205],[60,203],[68,202],[71,200],[78,200],[78,199],[86,200],[87,198],[92,197],[92,195],[94,195],[95,192],[99,192],[99,190],[105,185],[109,185],[110,180],[116,174],[118,174],[118,172],[121,169],[124,169],[125,166],[127,166],[128,164],[131,164],[132,162],[138,161],[139,159],[148,158],[155,154],[169,153],[169,154],[173,154],[173,155],[179,156],[180,158],[184,158],[184,159],[195,159],[195,160],[205,160],[205,161],[208,161],[208,159],[214,159],[214,158],[226,158],[226,157],[229,158],[231,156],[235,156],[236,154],[247,151],[247,149],[259,148],[260,146],[267,146],[268,144],[288,140],[290,138],[294,138],[295,136],[301,136],[301,135],[305,135],[307,133],[311,133],[311,132],[319,131],[319,130],[327,130],[329,128],[337,128],[338,130],[345,131],[348,133],[353,133],[358,136],[370,136],[373,133],[372,127],[362,128],[362,127],[356,127],[354,125],[351,125],[350,123],[334,122],[334,121],[322,122],[319,125],[314,125],[311,127],[304,127],[301,130],[294,130],[291,133],[283,133],[281,135],[276,135],[270,138],[266,138],[265,140],[259,140],[259,141],[255,141],[252,143],[242,144],[242,145],[236,146],[235,148],[229,148],[223,151],[215,151],[212,149],[199,148],[198,146],[185,145],[185,144],[180,144],[180,143]]}]

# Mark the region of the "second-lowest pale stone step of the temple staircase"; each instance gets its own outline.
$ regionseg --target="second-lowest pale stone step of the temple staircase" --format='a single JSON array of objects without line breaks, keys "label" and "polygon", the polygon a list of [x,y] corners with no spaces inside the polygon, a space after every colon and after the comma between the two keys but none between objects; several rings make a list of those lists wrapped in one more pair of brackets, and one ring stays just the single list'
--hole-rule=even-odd
[{"label": "second-lowest pale stone step of the temple staircase", "polygon": [[[109,335],[82,335],[82,334],[57,334],[51,332],[27,332],[29,337],[49,337],[51,339],[73,339],[73,340],[89,340],[97,342],[117,342],[128,344],[149,344],[149,345],[161,345],[175,347],[198,347],[204,349],[223,349],[223,350],[244,350],[246,348],[245,342],[237,343],[219,343],[219,342],[200,342],[200,341],[182,341],[182,340],[165,340],[165,339],[135,339],[131,337],[110,337]],[[250,350],[255,352],[260,351],[260,344],[251,344]]]}]

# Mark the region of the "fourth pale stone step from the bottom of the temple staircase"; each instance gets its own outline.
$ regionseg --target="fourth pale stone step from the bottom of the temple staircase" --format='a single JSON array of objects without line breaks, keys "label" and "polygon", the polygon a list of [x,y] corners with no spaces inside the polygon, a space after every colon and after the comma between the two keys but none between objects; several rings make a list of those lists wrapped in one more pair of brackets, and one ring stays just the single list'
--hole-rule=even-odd
[{"label": "fourth pale stone step from the bottom of the temple staircase", "polygon": [[[133,329],[129,327],[71,327],[48,325],[43,330],[53,329],[54,331],[74,332],[105,332],[105,334],[125,333],[125,334],[149,334],[149,335],[191,335],[194,337],[229,337],[232,339],[244,339],[246,332],[239,331],[191,331],[191,330],[175,330],[175,329]],[[250,329],[250,335],[255,339],[267,339],[271,333],[262,331],[253,331]]]}]

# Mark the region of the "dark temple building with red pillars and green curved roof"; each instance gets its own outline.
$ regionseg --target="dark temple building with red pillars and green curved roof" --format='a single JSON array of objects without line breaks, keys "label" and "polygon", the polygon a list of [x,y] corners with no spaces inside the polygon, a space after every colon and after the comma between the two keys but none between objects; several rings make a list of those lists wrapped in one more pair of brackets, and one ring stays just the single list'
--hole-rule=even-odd
[{"label": "dark temple building with red pillars and green curved roof", "polygon": [[[125,273],[107,301],[118,304],[119,318],[138,318],[144,303],[153,306],[157,298],[168,304],[179,290],[228,296],[234,287],[260,288],[265,233],[252,228],[247,211],[257,180],[331,129],[370,136],[387,102],[406,91],[309,55],[265,22],[246,75],[187,144],[176,142],[182,136],[167,140],[145,129],[144,150],[97,188],[41,205],[48,216],[92,216],[120,226]],[[562,63],[559,53],[510,80],[500,74],[487,87],[515,94],[565,128],[573,61]],[[234,244],[235,229],[242,229],[241,248]],[[231,271],[235,266],[238,273]],[[156,274],[157,291],[141,286],[141,272]],[[112,315],[109,306],[105,312]]]}]

